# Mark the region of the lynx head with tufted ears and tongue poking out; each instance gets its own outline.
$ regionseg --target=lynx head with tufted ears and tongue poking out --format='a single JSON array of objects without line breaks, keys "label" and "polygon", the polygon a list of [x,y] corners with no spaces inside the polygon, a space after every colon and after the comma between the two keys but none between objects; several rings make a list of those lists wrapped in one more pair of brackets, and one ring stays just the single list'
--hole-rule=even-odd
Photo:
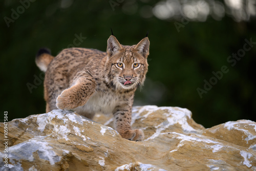
[{"label": "lynx head with tufted ears and tongue poking out", "polygon": [[116,89],[141,86],[147,72],[150,41],[143,38],[137,45],[123,46],[114,35],[108,39],[105,81]]}]

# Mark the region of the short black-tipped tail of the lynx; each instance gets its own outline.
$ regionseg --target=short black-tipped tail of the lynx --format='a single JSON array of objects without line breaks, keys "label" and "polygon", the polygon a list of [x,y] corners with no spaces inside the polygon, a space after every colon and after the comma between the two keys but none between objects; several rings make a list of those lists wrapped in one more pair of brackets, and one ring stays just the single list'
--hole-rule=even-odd
[{"label": "short black-tipped tail of the lynx", "polygon": [[41,71],[46,72],[49,63],[52,61],[53,58],[54,56],[51,55],[50,49],[41,48],[36,53],[35,63]]}]

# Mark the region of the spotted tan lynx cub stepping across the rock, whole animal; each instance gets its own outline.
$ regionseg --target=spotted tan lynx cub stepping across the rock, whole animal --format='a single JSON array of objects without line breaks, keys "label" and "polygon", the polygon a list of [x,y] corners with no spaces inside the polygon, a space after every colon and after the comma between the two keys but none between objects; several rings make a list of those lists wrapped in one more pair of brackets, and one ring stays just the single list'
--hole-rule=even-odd
[{"label": "spotted tan lynx cub stepping across the rock, whole animal", "polygon": [[54,109],[76,111],[90,119],[95,113],[113,113],[119,134],[141,141],[140,130],[132,130],[131,114],[134,93],[143,84],[147,72],[150,41],[123,46],[114,35],[105,52],[69,48],[56,57],[40,49],[36,65],[44,72],[46,112]]}]

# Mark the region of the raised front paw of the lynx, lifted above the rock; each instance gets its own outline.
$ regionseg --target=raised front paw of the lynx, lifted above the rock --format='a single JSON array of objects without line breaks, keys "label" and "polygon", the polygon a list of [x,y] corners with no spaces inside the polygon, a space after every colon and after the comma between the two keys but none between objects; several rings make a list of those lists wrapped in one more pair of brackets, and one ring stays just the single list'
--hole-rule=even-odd
[{"label": "raised front paw of the lynx, lifted above the rock", "polygon": [[75,109],[80,105],[84,105],[87,100],[85,100],[84,95],[79,97],[72,88],[64,90],[57,98],[57,108],[58,109]]}]

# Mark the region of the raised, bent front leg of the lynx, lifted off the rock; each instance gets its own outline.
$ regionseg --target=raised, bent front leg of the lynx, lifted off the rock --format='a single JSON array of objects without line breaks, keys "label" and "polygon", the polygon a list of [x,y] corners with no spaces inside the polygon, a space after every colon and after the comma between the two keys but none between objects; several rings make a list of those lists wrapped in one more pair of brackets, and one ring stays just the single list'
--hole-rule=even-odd
[{"label": "raised, bent front leg of the lynx, lifted off the rock", "polygon": [[76,74],[73,81],[74,86],[62,91],[57,98],[58,109],[75,109],[86,104],[96,90],[96,81],[85,71]]}]

